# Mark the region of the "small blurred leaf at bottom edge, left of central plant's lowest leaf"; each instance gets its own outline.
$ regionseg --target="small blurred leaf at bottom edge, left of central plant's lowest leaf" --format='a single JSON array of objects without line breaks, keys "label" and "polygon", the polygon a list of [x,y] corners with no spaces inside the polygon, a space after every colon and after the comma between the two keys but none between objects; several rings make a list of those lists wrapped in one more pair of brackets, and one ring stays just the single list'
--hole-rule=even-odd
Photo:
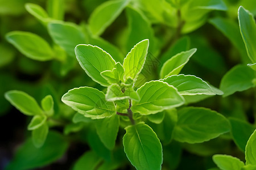
[{"label": "small blurred leaf at bottom edge, left of central plant's lowest leaf", "polygon": [[72,170],[96,169],[101,162],[100,156],[93,151],[88,151],[76,161]]}]

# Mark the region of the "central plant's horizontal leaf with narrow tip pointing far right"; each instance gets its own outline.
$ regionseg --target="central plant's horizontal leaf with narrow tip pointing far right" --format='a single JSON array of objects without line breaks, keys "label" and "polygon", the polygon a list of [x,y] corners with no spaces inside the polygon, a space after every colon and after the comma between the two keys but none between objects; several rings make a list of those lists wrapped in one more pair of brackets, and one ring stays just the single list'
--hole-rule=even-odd
[{"label": "central plant's horizontal leaf with narrow tip pointing far right", "polygon": [[[177,88],[180,95],[216,95],[216,90],[213,90],[207,82],[194,75],[172,75],[163,79],[163,82]],[[222,95],[221,91],[217,95]]]}]

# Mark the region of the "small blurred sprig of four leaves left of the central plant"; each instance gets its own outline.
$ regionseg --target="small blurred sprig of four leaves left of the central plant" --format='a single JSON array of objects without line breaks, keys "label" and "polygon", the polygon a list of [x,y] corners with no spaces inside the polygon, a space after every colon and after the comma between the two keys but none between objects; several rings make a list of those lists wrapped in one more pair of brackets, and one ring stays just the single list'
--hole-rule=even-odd
[{"label": "small blurred sprig of four leaves left of the central plant", "polygon": [[5,98],[23,114],[34,116],[28,125],[32,130],[32,141],[36,147],[42,147],[48,134],[47,117],[51,117],[53,111],[53,99],[51,95],[44,97],[41,101],[41,109],[36,100],[22,91],[8,91]]}]

